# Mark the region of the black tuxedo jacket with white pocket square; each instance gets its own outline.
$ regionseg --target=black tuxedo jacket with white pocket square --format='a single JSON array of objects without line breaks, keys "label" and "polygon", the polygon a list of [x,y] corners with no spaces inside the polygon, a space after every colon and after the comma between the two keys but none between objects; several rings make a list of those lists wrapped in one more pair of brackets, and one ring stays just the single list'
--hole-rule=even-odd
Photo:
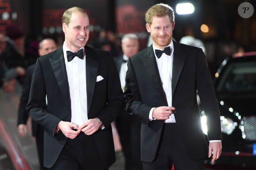
[{"label": "black tuxedo jacket with white pocket square", "polygon": [[[97,117],[105,125],[104,130],[99,129],[92,136],[98,147],[95,152],[100,153],[102,163],[109,167],[115,162],[111,122],[124,107],[123,91],[110,53],[88,46],[85,46],[85,53],[88,119]],[[97,76],[104,79],[96,82]],[[70,94],[62,47],[37,59],[26,109],[32,119],[45,127],[44,166],[50,168],[68,140],[61,131],[55,133],[58,123],[61,120],[71,121]]]}]

